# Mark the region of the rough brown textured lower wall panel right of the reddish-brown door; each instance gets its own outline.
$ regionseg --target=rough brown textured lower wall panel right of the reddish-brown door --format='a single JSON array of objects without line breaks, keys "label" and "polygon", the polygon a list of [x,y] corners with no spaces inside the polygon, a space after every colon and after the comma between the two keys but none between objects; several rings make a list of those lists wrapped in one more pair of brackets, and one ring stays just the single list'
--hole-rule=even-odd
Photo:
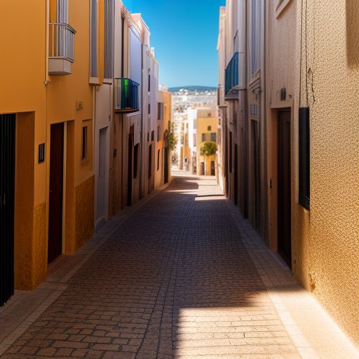
[{"label": "rough brown textured lower wall panel right of the reddish-brown door", "polygon": [[75,250],[93,236],[95,176],[76,187]]}]

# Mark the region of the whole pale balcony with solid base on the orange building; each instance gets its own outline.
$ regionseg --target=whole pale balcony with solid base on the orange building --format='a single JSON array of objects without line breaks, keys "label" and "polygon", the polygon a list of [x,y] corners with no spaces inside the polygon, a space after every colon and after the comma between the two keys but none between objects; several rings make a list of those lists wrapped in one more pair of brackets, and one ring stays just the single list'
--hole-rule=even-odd
[{"label": "whole pale balcony with solid base on the orange building", "polygon": [[49,24],[48,74],[72,74],[74,62],[74,36],[76,31],[68,24]]}]

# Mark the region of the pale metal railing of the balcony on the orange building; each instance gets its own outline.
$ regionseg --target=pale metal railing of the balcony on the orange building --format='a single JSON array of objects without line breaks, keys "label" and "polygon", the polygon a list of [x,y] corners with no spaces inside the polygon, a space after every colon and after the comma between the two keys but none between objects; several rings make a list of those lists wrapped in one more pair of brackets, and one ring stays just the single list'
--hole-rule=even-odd
[{"label": "pale metal railing of the balcony on the orange building", "polygon": [[49,24],[48,58],[74,62],[74,36],[76,31],[68,24]]}]

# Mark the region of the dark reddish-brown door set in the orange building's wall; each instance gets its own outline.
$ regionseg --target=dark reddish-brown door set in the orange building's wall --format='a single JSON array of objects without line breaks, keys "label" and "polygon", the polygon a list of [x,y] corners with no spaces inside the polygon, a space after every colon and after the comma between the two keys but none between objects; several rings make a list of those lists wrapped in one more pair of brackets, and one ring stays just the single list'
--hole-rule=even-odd
[{"label": "dark reddish-brown door set in the orange building's wall", "polygon": [[48,263],[62,253],[62,194],[64,175],[64,124],[51,125]]}]

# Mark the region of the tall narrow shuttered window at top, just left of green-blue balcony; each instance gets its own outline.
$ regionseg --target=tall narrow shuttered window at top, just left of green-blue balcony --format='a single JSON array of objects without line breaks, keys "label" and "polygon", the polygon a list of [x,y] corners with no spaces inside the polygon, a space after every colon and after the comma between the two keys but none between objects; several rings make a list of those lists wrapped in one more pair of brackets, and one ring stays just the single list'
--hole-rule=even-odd
[{"label": "tall narrow shuttered window at top, just left of green-blue balcony", "polygon": [[104,79],[114,77],[114,0],[104,1]]}]

